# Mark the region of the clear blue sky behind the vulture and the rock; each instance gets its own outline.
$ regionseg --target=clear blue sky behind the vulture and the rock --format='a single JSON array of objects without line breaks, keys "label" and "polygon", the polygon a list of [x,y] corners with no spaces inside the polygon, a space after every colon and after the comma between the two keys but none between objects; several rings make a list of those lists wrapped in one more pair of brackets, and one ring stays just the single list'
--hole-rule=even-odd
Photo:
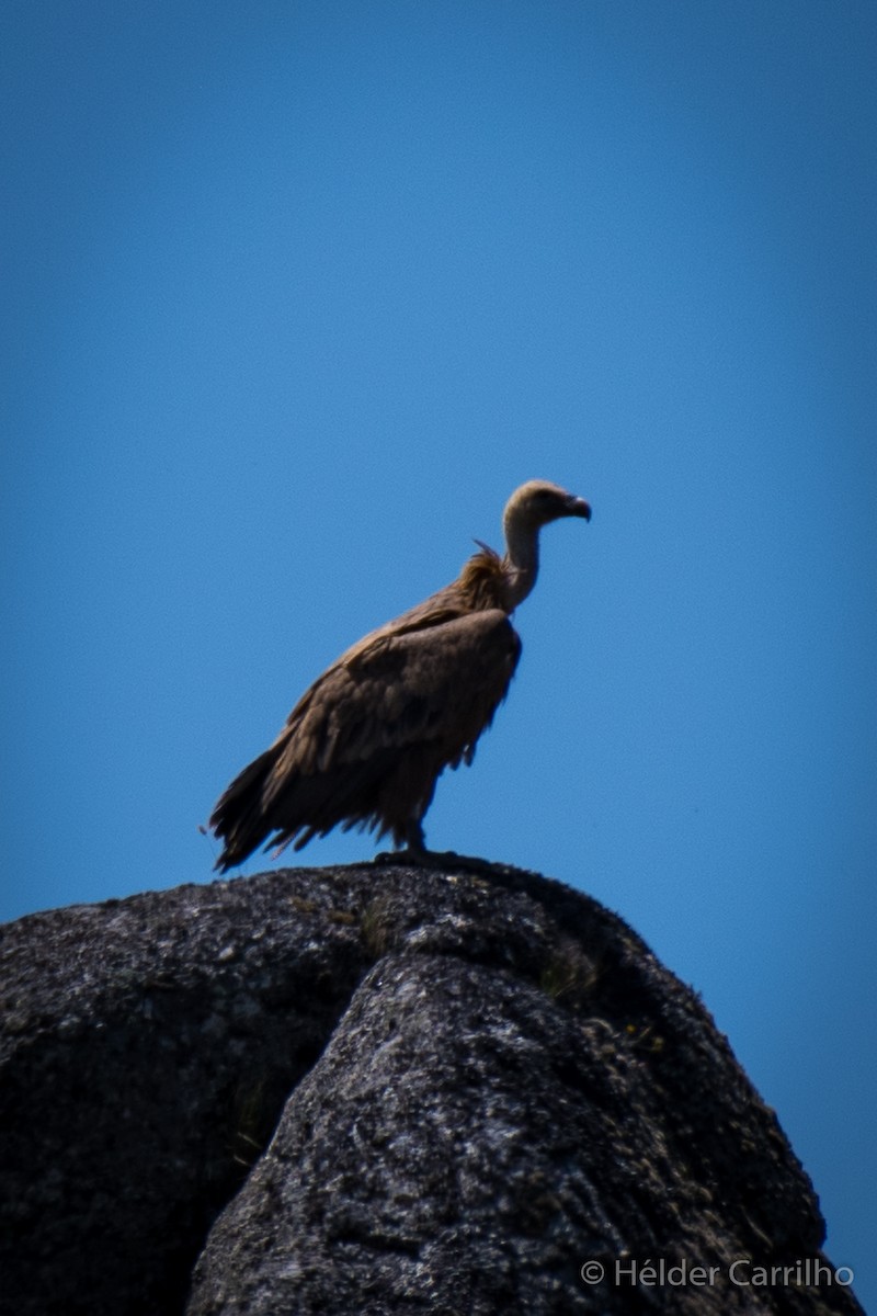
[{"label": "clear blue sky behind the vulture and the rock", "polygon": [[0,29],[3,915],[209,882],[305,686],[560,482],[593,521],[427,841],[702,994],[877,1296],[873,7]]}]

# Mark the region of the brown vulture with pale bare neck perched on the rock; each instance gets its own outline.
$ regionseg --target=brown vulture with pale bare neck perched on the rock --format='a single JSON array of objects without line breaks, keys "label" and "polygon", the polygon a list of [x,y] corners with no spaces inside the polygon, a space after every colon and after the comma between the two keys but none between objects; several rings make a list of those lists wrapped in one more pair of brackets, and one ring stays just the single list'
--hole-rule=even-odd
[{"label": "brown vulture with pale bare neck perched on the rock", "polygon": [[539,530],[590,520],[547,480],[509,499],[504,557],[479,551],[451,584],[372,630],[305,691],[273,745],[235,776],[209,826],[225,873],[264,842],[300,850],[338,824],[426,855],[423,815],[446,767],[471,763],[521,655],[509,620],[539,567]]}]

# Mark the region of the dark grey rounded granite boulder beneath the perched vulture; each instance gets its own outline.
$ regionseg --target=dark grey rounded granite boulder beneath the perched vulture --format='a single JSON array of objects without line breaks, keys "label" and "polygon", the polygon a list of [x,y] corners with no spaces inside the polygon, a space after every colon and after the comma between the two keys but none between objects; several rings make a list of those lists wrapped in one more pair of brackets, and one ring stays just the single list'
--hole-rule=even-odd
[{"label": "dark grey rounded granite boulder beneath the perched vulture", "polygon": [[860,1311],[706,1011],[557,883],[297,869],[0,934],[3,1312]]}]

